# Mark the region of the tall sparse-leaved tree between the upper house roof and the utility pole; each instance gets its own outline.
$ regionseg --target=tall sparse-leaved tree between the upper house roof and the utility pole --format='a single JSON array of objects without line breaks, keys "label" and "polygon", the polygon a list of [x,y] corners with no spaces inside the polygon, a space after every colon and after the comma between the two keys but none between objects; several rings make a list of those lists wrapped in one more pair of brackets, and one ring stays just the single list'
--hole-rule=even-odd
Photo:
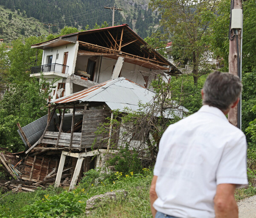
[{"label": "tall sparse-leaved tree between the upper house roof and the utility pole", "polygon": [[179,62],[190,60],[194,83],[209,73],[206,43],[210,35],[209,23],[214,18],[216,1],[151,0],[150,6],[162,16],[164,36],[172,41],[172,55]]}]

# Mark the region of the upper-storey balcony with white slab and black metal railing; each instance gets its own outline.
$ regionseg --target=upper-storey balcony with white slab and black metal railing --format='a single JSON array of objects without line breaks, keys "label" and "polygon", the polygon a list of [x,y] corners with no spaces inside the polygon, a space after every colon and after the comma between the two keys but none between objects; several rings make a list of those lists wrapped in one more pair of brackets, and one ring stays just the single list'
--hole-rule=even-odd
[{"label": "upper-storey balcony with white slab and black metal railing", "polygon": [[44,74],[44,77],[67,77],[69,66],[52,63],[45,64],[41,66],[34,66],[31,68],[30,76],[40,77],[41,73]]}]

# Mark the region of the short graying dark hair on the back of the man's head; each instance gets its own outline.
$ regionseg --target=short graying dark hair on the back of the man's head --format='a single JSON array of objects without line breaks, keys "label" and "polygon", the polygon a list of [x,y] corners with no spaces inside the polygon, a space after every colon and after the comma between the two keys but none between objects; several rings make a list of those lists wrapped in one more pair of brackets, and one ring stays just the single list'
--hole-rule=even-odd
[{"label": "short graying dark hair on the back of the man's head", "polygon": [[203,91],[203,104],[227,110],[240,97],[242,83],[238,76],[217,70],[207,77]]}]

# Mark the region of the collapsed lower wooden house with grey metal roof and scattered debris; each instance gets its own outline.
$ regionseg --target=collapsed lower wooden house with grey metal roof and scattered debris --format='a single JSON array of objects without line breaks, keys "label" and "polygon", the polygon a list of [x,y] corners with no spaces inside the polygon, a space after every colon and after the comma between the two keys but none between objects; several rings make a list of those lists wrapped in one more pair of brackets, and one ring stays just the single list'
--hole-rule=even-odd
[{"label": "collapsed lower wooden house with grey metal roof and scattered debris", "polygon": [[[113,118],[114,110],[138,110],[139,103],[149,103],[155,95],[120,77],[53,100],[48,115],[19,128],[26,150],[16,154],[16,159],[11,154],[0,153],[0,160],[5,163],[6,172],[19,180],[16,183],[23,183],[23,190],[49,184],[73,189],[83,173],[102,166],[110,147],[113,149],[112,127],[100,134],[96,134],[97,129]],[[67,110],[71,113],[65,113]],[[181,117],[184,111],[187,109],[183,106],[173,110]],[[116,141],[116,146],[119,143]]]}]

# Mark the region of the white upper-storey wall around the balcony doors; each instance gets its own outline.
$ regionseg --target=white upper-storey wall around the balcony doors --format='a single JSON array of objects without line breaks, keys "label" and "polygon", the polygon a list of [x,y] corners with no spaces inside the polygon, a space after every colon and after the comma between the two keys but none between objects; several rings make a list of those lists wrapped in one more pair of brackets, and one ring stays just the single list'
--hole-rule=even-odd
[{"label": "white upper-storey wall around the balcony doors", "polygon": [[[55,48],[44,49],[43,57],[42,57],[42,65],[47,64],[47,56],[52,55],[52,63],[63,64],[64,62],[64,52],[68,52],[67,56],[67,66],[68,68],[68,75],[72,74],[74,59],[76,58],[76,43],[71,43],[64,46],[58,46]],[[58,54],[58,59],[56,59]]]}]

